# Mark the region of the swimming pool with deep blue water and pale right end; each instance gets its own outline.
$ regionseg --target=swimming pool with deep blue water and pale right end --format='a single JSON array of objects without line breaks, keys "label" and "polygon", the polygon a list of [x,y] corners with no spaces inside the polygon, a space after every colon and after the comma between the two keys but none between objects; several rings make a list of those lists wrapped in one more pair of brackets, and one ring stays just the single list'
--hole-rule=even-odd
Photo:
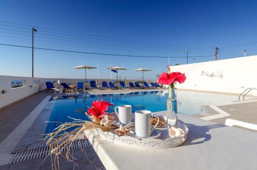
[{"label": "swimming pool with deep blue water and pale right end", "polygon": [[[178,112],[183,115],[194,115],[206,112],[203,108],[210,104],[224,104],[237,101],[237,96],[221,95],[217,93],[206,93],[196,91],[177,90]],[[72,96],[53,96],[49,102],[54,102],[54,107],[50,116],[50,122],[70,122],[71,119],[87,120],[85,111],[95,100],[109,101],[114,106],[109,107],[107,112],[113,112],[116,106],[122,104],[132,105],[132,111],[166,110],[168,91],[137,91],[129,93],[116,93],[108,95],[72,95]],[[50,133],[58,126],[57,123],[48,123],[45,133]]]}]

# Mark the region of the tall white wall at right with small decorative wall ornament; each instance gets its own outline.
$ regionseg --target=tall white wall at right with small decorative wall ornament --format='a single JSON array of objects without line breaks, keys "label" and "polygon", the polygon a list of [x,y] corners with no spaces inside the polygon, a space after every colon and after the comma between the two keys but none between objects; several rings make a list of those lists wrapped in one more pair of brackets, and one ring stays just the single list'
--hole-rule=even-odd
[{"label": "tall white wall at right with small decorative wall ornament", "polygon": [[[257,88],[257,55],[171,66],[171,71],[186,74],[186,82],[176,84],[180,89],[241,93],[248,87]],[[252,90],[249,94],[256,93]]]}]

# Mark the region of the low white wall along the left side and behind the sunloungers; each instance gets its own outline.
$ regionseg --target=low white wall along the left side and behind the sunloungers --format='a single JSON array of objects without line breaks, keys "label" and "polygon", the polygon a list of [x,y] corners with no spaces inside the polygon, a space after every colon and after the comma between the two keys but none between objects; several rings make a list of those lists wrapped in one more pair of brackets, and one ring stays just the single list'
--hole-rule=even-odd
[{"label": "low white wall along the left side and behind the sunloungers", "polygon": [[[38,84],[33,85],[33,80],[38,80]],[[22,80],[23,87],[11,88],[11,82],[13,80]],[[36,92],[44,90],[46,88],[45,81],[60,80],[60,83],[67,84],[77,84],[78,81],[83,79],[47,79],[47,78],[28,78],[28,77],[13,77],[13,76],[4,76],[0,75],[0,110],[1,108],[12,104],[13,102],[19,101],[23,98],[26,98],[30,95],[33,95]],[[88,79],[90,81],[93,79]],[[102,86],[102,82],[109,82],[109,79],[94,79],[97,82],[97,85]],[[129,82],[136,82],[138,80],[124,80],[128,86]],[[148,80],[150,82],[156,82],[156,80]],[[119,85],[119,84],[118,84]],[[54,83],[54,86],[57,87],[57,83]],[[2,90],[6,90],[7,93],[2,93]]]}]

